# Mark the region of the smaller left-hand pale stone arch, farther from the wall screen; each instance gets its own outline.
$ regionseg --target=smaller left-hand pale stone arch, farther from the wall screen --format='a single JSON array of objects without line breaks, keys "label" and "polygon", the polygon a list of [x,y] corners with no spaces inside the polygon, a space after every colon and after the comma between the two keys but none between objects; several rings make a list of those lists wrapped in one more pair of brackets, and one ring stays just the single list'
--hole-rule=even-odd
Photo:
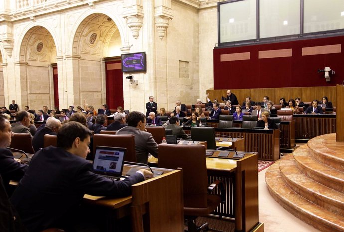
[{"label": "smaller left-hand pale stone arch, farther from the wall screen", "polygon": [[18,59],[19,61],[25,61],[25,57],[22,56],[22,52],[26,49],[27,38],[38,28],[44,28],[47,32],[49,32],[50,36],[53,39],[54,46],[56,47],[56,56],[61,55],[61,46],[59,43],[57,43],[57,41],[59,40],[56,31],[53,30],[50,25],[45,22],[32,22],[25,26],[23,32],[20,34],[18,40],[16,41],[16,44],[14,45],[14,47],[17,48],[14,56],[15,59]]}]

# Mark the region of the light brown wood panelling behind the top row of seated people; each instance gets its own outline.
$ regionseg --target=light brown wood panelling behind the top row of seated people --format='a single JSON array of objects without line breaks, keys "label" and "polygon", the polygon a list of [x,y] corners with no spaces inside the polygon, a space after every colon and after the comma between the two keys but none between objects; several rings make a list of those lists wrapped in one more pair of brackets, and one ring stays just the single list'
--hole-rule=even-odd
[{"label": "light brown wood panelling behind the top row of seated people", "polygon": [[[289,99],[301,98],[303,102],[311,102],[314,99],[321,100],[323,96],[327,96],[333,106],[336,106],[336,86],[321,86],[321,87],[294,87],[294,88],[260,88],[260,89],[231,89],[232,93],[236,95],[239,103],[245,101],[246,96],[250,96],[253,101],[263,101],[264,96],[269,96],[269,99],[275,104],[279,104],[281,97],[286,101]],[[227,89],[208,89],[211,100],[217,99],[221,101],[221,97],[226,97]]]}]

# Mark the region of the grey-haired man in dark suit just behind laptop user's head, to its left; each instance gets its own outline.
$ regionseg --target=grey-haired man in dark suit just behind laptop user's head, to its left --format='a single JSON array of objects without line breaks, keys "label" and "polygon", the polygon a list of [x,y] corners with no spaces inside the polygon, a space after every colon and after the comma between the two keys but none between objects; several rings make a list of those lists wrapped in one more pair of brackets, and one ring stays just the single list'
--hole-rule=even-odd
[{"label": "grey-haired man in dark suit just behind laptop user's head, to its left", "polygon": [[53,117],[48,118],[48,120],[46,120],[44,128],[39,130],[33,136],[32,146],[35,152],[44,147],[44,135],[57,135],[57,132],[61,128],[61,126],[62,124],[58,119]]}]

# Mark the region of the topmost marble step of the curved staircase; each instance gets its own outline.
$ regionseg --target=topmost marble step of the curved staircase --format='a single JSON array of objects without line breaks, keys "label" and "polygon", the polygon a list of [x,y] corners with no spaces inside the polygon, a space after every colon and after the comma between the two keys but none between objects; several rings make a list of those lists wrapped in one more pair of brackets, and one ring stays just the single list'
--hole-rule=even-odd
[{"label": "topmost marble step of the curved staircase", "polygon": [[344,172],[344,143],[336,142],[336,133],[315,137],[307,145],[314,159]]}]

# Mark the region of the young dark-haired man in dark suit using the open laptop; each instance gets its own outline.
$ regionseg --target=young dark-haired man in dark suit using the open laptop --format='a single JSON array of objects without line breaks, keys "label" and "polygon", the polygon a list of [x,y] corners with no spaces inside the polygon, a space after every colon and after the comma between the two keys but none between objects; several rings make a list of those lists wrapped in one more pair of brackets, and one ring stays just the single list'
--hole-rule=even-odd
[{"label": "young dark-haired man in dark suit using the open laptop", "polygon": [[35,154],[10,199],[29,232],[52,227],[75,231],[82,220],[78,208],[84,194],[123,197],[130,195],[131,185],[153,177],[144,169],[122,181],[95,174],[85,159],[90,137],[89,129],[68,122],[57,133],[57,147]]}]

